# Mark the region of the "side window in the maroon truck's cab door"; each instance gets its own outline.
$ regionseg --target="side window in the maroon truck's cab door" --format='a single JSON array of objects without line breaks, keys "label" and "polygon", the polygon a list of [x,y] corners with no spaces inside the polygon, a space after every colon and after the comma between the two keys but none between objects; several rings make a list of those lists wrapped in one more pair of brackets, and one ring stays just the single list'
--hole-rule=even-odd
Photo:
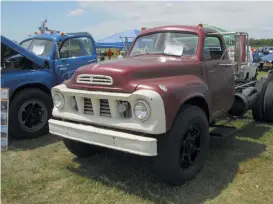
[{"label": "side window in the maroon truck's cab door", "polygon": [[[204,43],[204,60],[220,60],[224,53],[221,40],[217,36],[208,36]],[[226,58],[226,54],[224,59]]]}]

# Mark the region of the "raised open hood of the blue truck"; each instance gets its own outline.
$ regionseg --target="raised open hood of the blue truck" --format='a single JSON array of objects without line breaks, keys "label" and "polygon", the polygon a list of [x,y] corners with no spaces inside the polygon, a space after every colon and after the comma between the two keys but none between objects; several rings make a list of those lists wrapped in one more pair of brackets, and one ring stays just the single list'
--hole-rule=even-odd
[{"label": "raised open hood of the blue truck", "polygon": [[[23,55],[24,57],[28,58],[29,60],[33,61],[35,64],[43,67],[44,66],[44,59],[37,56],[36,54],[32,53],[31,51],[23,48],[21,45],[9,40],[8,38],[1,35],[1,44],[5,45],[7,48],[11,48],[12,50],[16,51],[17,53]],[[1,45],[1,49],[3,49],[3,46]],[[7,54],[4,50],[1,52],[1,59],[3,60]],[[9,56],[11,57],[11,56]]]}]

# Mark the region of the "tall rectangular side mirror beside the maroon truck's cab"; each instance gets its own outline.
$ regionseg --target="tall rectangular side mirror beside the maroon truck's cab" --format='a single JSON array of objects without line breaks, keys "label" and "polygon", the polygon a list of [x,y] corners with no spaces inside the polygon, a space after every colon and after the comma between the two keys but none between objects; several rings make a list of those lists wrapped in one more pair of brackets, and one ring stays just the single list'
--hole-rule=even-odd
[{"label": "tall rectangular side mirror beside the maroon truck's cab", "polygon": [[234,61],[237,63],[246,62],[246,47],[247,47],[247,36],[245,34],[235,35],[235,53]]}]

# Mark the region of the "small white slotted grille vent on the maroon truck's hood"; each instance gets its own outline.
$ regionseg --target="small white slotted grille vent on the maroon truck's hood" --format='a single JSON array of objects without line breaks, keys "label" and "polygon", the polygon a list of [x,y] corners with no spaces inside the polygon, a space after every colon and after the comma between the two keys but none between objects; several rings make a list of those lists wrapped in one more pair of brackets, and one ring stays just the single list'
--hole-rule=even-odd
[{"label": "small white slotted grille vent on the maroon truck's hood", "polygon": [[112,85],[113,79],[110,76],[104,75],[80,74],[77,77],[77,83],[94,85]]}]

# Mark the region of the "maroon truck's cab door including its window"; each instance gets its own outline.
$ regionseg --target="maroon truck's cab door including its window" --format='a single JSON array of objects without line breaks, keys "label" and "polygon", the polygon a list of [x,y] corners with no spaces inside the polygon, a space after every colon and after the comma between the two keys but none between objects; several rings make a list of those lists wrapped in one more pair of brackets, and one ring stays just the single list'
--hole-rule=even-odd
[{"label": "maroon truck's cab door including its window", "polygon": [[211,93],[213,117],[227,112],[234,100],[234,75],[223,38],[207,36],[203,50],[204,73]]}]

